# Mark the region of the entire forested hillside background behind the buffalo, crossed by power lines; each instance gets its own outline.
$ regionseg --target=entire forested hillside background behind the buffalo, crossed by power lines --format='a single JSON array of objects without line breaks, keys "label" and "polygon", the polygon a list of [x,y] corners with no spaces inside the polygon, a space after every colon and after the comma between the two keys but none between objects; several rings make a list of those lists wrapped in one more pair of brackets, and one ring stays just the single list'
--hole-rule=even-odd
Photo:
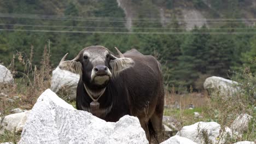
[{"label": "entire forested hillside background behind the buffalo, crossed by power lines", "polygon": [[39,65],[44,47],[53,68],[85,46],[135,48],[158,57],[166,84],[200,91],[203,77],[229,78],[245,66],[256,71],[255,16],[253,0],[1,0],[0,63],[26,61],[32,52]]}]

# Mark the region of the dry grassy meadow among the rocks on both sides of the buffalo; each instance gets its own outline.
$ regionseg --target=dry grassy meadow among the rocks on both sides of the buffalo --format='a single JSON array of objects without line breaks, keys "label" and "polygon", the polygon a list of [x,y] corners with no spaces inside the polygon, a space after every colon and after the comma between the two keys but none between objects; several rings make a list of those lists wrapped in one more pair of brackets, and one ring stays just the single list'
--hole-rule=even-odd
[{"label": "dry grassy meadow among the rocks on both sides of the buffalo", "polygon": [[[8,67],[11,73],[16,77],[13,86],[1,86],[0,93],[9,95],[9,98],[14,96],[19,97],[14,103],[11,103],[5,97],[1,97],[0,111],[1,117],[10,114],[11,109],[20,107],[21,109],[30,110],[36,103],[39,95],[50,88],[51,72],[54,69],[50,62],[50,45],[44,47],[42,60],[40,65],[33,65],[33,46],[31,47],[30,56],[22,56],[22,52],[16,53]],[[17,67],[23,67],[24,71],[17,71]],[[165,71],[163,71],[165,73]],[[252,94],[255,93],[256,77],[250,71],[243,70],[240,73],[234,74],[234,80],[241,82],[241,87],[245,91],[237,93],[228,99],[225,95],[214,93],[211,97],[206,91],[195,92],[192,87],[189,90],[182,91],[179,88],[166,86],[165,94],[165,116],[171,116],[179,122],[178,129],[185,125],[194,124],[199,121],[217,122],[222,126],[230,127],[232,121],[241,113],[248,113],[253,116],[247,132],[242,134],[242,137],[229,137],[226,142],[234,143],[242,140],[254,141],[255,133],[255,104],[250,102]],[[59,95],[61,97],[61,95]],[[69,104],[75,105],[75,101],[65,99]],[[188,105],[194,105],[194,109],[188,109]],[[194,117],[194,112],[199,112],[202,117]],[[20,134],[5,131],[4,135],[0,135],[0,142],[17,143],[20,139]],[[207,136],[206,136],[207,139]],[[207,143],[207,142],[206,142]]]}]

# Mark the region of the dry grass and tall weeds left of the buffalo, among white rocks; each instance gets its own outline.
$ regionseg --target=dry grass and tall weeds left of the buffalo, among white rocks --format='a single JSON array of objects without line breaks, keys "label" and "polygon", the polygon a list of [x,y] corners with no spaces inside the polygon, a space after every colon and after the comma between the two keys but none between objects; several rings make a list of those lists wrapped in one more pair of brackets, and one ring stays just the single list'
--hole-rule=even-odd
[{"label": "dry grass and tall weeds left of the buffalo, among white rocks", "polygon": [[[18,71],[17,67],[24,68]],[[0,97],[1,117],[10,114],[11,109],[17,107],[30,110],[36,103],[37,98],[45,89],[50,88],[51,81],[51,65],[50,65],[50,45],[45,45],[42,60],[40,64],[33,64],[33,46],[31,46],[30,56],[25,53],[18,52],[13,56],[8,67],[14,77],[14,85],[0,86],[0,93],[7,94],[8,97]],[[18,96],[18,97],[16,97]],[[14,101],[9,101],[8,99]],[[14,142],[20,139],[20,134],[6,132],[1,136],[1,142]]]}]

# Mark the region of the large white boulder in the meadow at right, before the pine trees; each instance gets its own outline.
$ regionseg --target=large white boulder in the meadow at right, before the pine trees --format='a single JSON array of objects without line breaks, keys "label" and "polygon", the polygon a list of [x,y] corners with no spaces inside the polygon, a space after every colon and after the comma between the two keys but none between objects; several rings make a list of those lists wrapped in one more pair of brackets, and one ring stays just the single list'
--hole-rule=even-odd
[{"label": "large white boulder in the meadow at right, before the pine trees", "polygon": [[231,81],[218,76],[208,77],[203,83],[203,88],[207,89],[208,92],[217,91],[220,94],[227,96],[234,95],[239,90],[236,81]]}]

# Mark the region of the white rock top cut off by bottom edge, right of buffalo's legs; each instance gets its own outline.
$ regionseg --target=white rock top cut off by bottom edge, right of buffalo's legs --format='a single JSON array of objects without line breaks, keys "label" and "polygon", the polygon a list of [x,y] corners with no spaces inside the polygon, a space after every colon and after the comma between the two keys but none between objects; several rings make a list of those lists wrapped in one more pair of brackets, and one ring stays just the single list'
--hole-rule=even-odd
[{"label": "white rock top cut off by bottom edge, right of buffalo's legs", "polygon": [[191,141],[191,140],[185,138],[185,137],[175,135],[160,144],[196,144],[196,143],[194,141]]}]

